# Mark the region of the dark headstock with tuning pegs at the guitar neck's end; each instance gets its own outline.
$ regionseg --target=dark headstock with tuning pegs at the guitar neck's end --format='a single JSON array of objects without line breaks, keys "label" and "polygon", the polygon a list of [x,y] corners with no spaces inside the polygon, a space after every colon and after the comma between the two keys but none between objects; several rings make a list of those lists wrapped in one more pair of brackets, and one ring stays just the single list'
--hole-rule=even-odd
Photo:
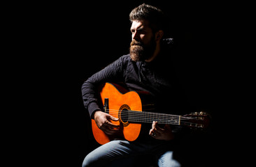
[{"label": "dark headstock with tuning pegs at the guitar neck's end", "polygon": [[197,129],[207,129],[210,124],[211,116],[208,113],[201,111],[186,114],[180,119],[180,125]]}]

